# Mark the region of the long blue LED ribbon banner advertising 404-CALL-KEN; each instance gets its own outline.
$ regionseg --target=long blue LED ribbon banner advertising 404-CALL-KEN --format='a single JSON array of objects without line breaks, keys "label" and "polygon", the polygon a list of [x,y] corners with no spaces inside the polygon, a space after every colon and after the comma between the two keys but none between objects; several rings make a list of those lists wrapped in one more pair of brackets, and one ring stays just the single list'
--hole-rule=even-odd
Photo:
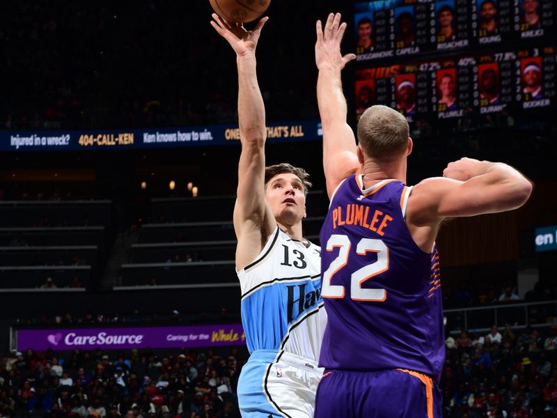
[{"label": "long blue LED ribbon banner advertising 404-CALL-KEN", "polygon": [[[320,121],[269,123],[270,143],[317,141]],[[167,127],[130,130],[0,132],[0,151],[134,150],[240,144],[235,125]]]}]

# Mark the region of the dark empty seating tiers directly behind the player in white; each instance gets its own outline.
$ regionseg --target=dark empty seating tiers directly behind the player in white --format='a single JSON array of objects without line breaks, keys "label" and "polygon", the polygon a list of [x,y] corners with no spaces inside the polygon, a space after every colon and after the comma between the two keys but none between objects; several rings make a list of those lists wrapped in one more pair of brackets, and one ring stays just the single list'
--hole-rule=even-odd
[{"label": "dark empty seating tiers directly behind the player in white", "polygon": [[[324,194],[310,192],[304,236],[319,243]],[[121,286],[235,284],[234,196],[152,199],[152,219],[122,265]]]}]

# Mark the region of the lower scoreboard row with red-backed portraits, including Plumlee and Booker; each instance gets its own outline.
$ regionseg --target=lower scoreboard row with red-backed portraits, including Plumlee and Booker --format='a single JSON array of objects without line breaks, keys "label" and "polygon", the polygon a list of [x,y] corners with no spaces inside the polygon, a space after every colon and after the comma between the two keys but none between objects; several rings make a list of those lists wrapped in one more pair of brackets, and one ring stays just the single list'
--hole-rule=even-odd
[{"label": "lower scoreboard row with red-backed portraits, including Plumlee and Booker", "polygon": [[458,118],[470,109],[489,114],[549,107],[556,95],[555,47],[494,54],[457,54],[356,70],[356,116],[385,104],[412,116]]}]

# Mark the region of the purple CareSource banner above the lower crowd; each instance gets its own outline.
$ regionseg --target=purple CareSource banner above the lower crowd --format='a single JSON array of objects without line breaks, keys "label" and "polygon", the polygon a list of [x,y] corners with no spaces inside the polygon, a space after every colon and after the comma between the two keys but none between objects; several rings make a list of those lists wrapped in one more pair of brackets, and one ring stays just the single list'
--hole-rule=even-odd
[{"label": "purple CareSource banner above the lower crowd", "polygon": [[241,324],[191,327],[97,327],[16,330],[15,347],[33,350],[119,350],[126,348],[194,348],[244,346]]}]

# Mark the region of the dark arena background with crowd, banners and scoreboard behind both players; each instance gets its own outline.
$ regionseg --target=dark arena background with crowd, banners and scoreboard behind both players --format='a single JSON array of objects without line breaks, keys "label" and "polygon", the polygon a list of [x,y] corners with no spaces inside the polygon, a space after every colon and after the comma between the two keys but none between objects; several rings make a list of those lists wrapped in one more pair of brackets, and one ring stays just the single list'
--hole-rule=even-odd
[{"label": "dark arena background with crowd, banners and scoreboard behind both players", "polygon": [[[556,417],[557,3],[483,3],[274,0],[267,164],[311,173],[318,243],[315,21],[340,11],[349,122],[376,103],[407,116],[409,184],[463,156],[535,183],[519,210],[442,226],[444,417]],[[240,416],[237,74],[211,12],[0,4],[0,417]]]}]

